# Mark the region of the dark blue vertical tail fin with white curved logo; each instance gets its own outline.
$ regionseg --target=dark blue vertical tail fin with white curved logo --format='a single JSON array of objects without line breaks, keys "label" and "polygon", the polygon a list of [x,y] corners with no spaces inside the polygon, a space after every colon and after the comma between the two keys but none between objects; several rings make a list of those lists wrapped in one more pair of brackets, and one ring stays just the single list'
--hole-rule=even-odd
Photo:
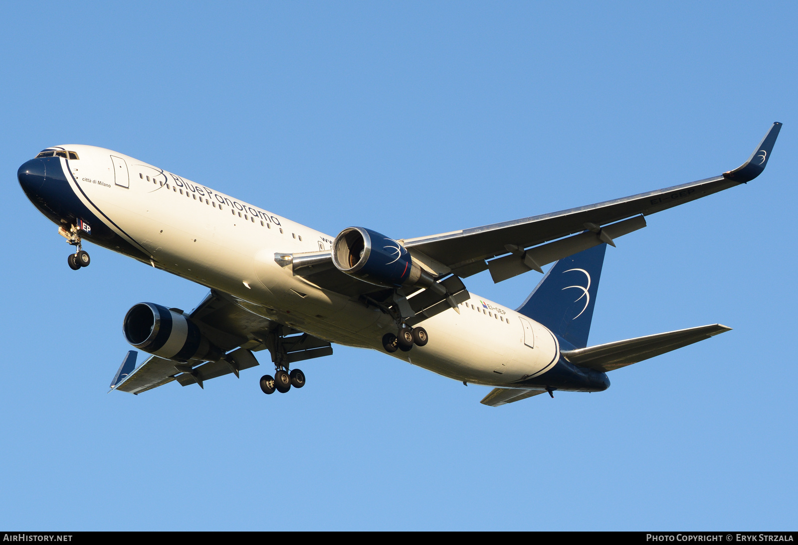
[{"label": "dark blue vertical tail fin with white curved logo", "polygon": [[587,347],[605,251],[601,244],[557,261],[516,311]]}]

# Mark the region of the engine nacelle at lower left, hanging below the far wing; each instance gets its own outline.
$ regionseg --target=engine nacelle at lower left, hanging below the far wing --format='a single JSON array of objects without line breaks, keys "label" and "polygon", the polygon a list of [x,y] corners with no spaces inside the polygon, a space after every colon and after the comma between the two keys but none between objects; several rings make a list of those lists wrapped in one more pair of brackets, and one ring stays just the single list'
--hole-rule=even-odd
[{"label": "engine nacelle at lower left, hanging below the far wing", "polygon": [[152,355],[185,363],[189,359],[216,360],[222,355],[186,316],[160,304],[133,305],[124,316],[124,338]]}]

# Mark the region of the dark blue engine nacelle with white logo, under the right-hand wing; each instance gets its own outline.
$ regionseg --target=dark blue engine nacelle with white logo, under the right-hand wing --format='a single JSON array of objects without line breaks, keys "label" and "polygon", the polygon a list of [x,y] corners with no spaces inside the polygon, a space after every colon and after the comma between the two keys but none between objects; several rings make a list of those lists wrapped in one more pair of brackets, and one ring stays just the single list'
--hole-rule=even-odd
[{"label": "dark blue engine nacelle with white logo, under the right-hand wing", "polygon": [[333,241],[333,264],[342,271],[378,286],[429,285],[425,273],[404,246],[365,227],[347,227]]}]

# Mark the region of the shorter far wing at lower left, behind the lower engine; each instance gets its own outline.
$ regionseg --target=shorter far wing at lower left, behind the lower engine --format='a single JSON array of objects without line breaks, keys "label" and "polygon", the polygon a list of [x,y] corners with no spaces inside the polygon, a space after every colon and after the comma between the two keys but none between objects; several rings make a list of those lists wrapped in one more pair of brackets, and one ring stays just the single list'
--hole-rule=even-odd
[{"label": "shorter far wing at lower left, behind the lower engine", "polygon": [[[226,352],[223,358],[204,363],[193,360],[180,363],[151,355],[139,367],[132,369],[136,351],[129,351],[113,379],[111,390],[140,394],[175,380],[181,386],[198,384],[204,388],[203,383],[211,378],[231,373],[238,376],[239,371],[259,365],[252,351],[274,348],[270,339],[274,339],[273,330],[280,324],[262,316],[264,310],[258,305],[211,290],[188,316],[211,343]],[[282,327],[281,332],[280,346],[286,352],[284,359],[287,362],[333,353],[326,340],[290,327]]]}]

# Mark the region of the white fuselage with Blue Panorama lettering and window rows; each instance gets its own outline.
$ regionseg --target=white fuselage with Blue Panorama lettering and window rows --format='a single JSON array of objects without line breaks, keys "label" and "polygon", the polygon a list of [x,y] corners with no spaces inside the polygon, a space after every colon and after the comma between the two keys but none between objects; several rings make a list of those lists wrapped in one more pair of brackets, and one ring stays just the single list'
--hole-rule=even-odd
[{"label": "white fuselage with Blue Panorama lettering and window rows", "polygon": [[[150,265],[227,292],[253,312],[310,335],[384,351],[382,335],[396,330],[390,316],[275,262],[275,253],[330,249],[334,237],[116,151],[64,148],[80,157],[69,160],[78,198]],[[559,359],[555,335],[526,316],[473,294],[459,310],[421,324],[429,332],[426,346],[392,355],[491,386],[542,374]]]}]

